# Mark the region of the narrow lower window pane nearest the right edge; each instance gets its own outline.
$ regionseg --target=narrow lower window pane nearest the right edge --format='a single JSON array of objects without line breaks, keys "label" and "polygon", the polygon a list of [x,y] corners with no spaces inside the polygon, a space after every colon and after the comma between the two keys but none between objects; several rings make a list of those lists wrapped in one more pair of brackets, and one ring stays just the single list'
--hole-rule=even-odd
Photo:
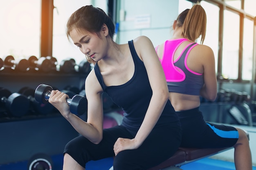
[{"label": "narrow lower window pane nearest the right edge", "polygon": [[243,39],[243,70],[242,79],[252,80],[252,55],[253,55],[253,30],[254,23],[251,20],[244,20]]}]

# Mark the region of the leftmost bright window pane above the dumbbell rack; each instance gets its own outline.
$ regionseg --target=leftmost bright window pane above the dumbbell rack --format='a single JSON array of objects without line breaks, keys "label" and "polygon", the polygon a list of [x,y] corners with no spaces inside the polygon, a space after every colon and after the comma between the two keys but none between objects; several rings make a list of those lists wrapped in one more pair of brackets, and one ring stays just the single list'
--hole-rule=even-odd
[{"label": "leftmost bright window pane above the dumbbell rack", "polygon": [[41,0],[0,1],[0,57],[15,59],[40,52]]}]

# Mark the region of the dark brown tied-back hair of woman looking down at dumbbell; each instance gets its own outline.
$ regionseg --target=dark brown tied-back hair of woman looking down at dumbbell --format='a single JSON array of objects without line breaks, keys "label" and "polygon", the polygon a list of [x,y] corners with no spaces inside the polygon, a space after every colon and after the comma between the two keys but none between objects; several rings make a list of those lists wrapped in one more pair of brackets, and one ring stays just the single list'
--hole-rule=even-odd
[{"label": "dark brown tied-back hair of woman looking down at dumbbell", "polygon": [[[88,31],[96,33],[99,36],[103,24],[108,26],[108,34],[113,39],[115,34],[115,25],[112,19],[100,8],[87,5],[76,10],[67,21],[66,35],[70,40],[70,31],[76,29],[78,31]],[[96,63],[92,58],[85,55],[89,63]]]}]

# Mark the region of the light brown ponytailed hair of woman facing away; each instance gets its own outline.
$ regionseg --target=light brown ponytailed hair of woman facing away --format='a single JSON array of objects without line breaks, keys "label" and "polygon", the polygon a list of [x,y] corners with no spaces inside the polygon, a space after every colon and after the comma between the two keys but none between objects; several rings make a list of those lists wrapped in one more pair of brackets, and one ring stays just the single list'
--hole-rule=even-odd
[{"label": "light brown ponytailed hair of woman facing away", "polygon": [[200,44],[203,44],[206,33],[206,13],[200,4],[195,4],[191,9],[186,9],[177,17],[177,26],[182,26],[186,39],[195,42],[201,35]]}]

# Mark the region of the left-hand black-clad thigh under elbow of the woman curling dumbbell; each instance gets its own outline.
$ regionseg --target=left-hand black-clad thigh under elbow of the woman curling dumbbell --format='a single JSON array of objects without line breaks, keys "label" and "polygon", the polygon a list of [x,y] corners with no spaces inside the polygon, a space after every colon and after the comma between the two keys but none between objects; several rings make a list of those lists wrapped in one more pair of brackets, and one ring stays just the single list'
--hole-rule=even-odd
[{"label": "left-hand black-clad thigh under elbow of the woman curling dumbbell", "polygon": [[99,144],[93,144],[87,138],[78,136],[65,146],[64,153],[68,153],[81,166],[91,160],[99,160],[115,155],[113,147],[118,137],[131,138],[132,136],[122,126],[103,129],[103,139]]}]

